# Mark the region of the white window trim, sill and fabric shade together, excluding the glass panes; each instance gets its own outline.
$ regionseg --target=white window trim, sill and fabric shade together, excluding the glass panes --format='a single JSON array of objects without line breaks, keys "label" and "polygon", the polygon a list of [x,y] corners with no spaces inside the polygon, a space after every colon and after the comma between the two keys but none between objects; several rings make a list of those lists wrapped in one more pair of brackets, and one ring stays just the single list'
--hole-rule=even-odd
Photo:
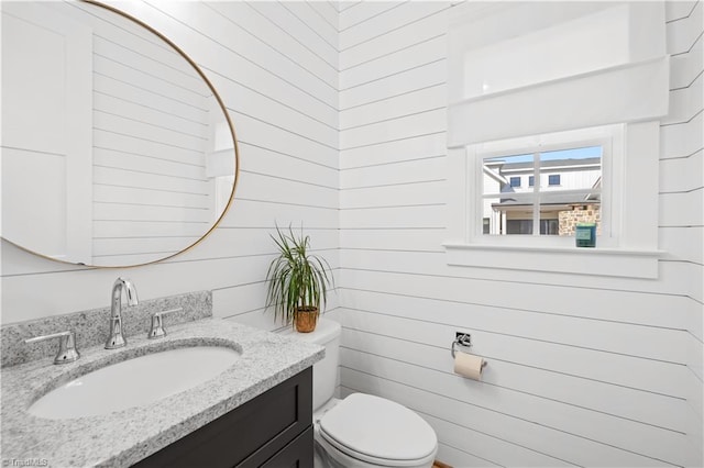
[{"label": "white window trim, sill and fabric shade together, excluding the glass panes", "polygon": [[[658,278],[659,121],[670,100],[664,4],[465,2],[455,9],[448,33],[448,264],[479,275]],[[595,44],[595,36],[603,41]],[[548,42],[559,52],[544,54]],[[580,51],[594,60],[571,60]],[[532,78],[516,73],[527,59],[540,71]],[[476,145],[596,125],[623,125],[623,158],[610,168],[612,203],[619,207],[612,210],[613,239],[587,248],[548,238],[554,236],[490,242],[476,235],[470,202]]]}]

